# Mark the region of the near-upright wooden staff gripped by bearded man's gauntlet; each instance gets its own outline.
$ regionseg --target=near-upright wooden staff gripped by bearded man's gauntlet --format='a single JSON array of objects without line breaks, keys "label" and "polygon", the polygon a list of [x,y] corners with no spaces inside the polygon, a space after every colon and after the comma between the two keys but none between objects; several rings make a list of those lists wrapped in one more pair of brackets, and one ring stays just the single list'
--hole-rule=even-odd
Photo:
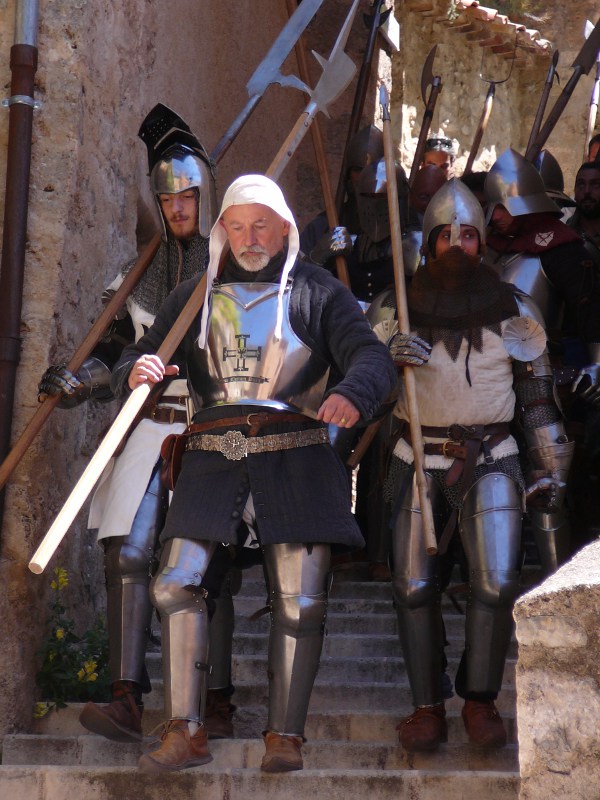
[{"label": "near-upright wooden staff gripped by bearded man's gauntlet", "polygon": [[[398,206],[398,186],[396,183],[396,162],[394,159],[394,143],[392,141],[389,96],[383,84],[380,88],[379,102],[381,103],[383,112],[383,152],[385,155],[385,170],[387,175],[390,232],[392,237],[392,256],[394,260],[394,282],[396,288],[396,306],[398,309],[398,330],[400,333],[410,333],[408,306],[406,304],[404,258],[402,256],[402,229],[400,227],[400,209]],[[435,555],[437,553],[437,540],[435,537],[429,489],[425,478],[423,437],[421,434],[421,423],[419,421],[417,389],[413,368],[409,366],[404,367],[404,388],[408,405],[410,435],[415,459],[415,477],[419,490],[421,523],[425,548],[428,555]]]}]

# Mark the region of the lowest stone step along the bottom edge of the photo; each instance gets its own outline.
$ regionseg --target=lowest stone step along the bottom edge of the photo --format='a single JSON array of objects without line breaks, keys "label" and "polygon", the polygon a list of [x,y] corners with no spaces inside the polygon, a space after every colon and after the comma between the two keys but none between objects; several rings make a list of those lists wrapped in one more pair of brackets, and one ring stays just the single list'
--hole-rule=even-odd
[{"label": "lowest stone step along the bottom edge of the photo", "polygon": [[179,773],[144,775],[131,767],[0,767],[0,797],[10,800],[517,800],[519,776],[504,771],[427,769],[304,769],[265,775],[255,763],[221,770],[213,764]]}]

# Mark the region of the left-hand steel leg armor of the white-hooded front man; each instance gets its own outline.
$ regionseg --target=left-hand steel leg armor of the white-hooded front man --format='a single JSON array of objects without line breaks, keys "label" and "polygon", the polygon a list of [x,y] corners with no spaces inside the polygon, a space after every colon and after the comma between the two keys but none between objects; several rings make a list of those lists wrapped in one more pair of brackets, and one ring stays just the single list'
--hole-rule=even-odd
[{"label": "left-hand steel leg armor of the white-hooded front man", "polygon": [[167,719],[204,720],[209,635],[202,578],[216,547],[216,542],[170,539],[150,587],[162,620]]}]

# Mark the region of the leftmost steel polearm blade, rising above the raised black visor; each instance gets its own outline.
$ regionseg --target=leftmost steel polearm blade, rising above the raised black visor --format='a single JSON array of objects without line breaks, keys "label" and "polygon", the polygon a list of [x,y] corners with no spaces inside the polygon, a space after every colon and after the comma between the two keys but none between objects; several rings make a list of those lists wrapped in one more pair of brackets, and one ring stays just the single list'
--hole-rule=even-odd
[{"label": "leftmost steel polearm blade, rising above the raised black visor", "polygon": [[278,83],[280,86],[290,86],[293,89],[299,89],[310,94],[310,89],[298,77],[295,75],[283,75],[281,66],[322,4],[323,0],[302,0],[302,3],[289,18],[279,36],[273,42],[271,49],[246,84],[248,102],[211,151],[211,158],[216,163],[229,150],[230,145],[270,84]]}]

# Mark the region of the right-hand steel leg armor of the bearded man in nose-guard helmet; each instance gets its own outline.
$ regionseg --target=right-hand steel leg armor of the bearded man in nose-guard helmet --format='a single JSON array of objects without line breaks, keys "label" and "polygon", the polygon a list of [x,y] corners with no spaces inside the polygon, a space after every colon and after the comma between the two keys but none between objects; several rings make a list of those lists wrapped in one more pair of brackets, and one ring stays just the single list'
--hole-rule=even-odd
[{"label": "right-hand steel leg armor of the bearded man in nose-guard helmet", "polygon": [[[521,498],[507,475],[489,473],[467,492],[459,530],[469,564],[464,691],[497,694],[519,592]],[[457,681],[457,689],[462,681]]]}]

